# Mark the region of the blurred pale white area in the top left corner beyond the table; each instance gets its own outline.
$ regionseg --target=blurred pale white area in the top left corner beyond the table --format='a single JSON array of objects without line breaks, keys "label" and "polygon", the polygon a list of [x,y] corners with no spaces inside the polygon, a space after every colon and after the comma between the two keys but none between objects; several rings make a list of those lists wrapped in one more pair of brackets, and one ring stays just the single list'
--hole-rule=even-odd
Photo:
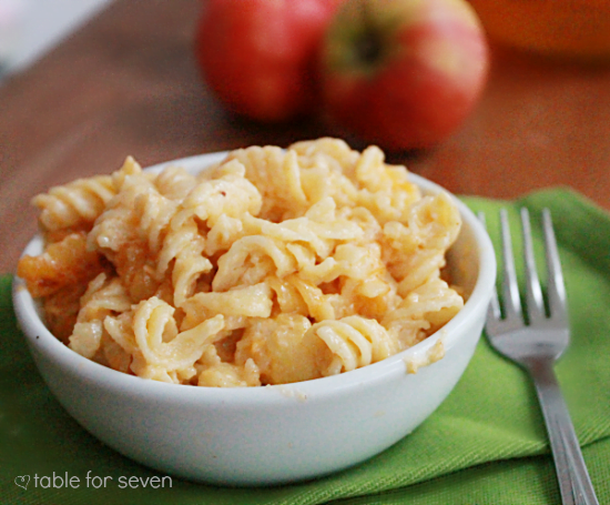
[{"label": "blurred pale white area in the top left corner beyond the table", "polygon": [[0,82],[32,64],[113,0],[0,0]]}]

